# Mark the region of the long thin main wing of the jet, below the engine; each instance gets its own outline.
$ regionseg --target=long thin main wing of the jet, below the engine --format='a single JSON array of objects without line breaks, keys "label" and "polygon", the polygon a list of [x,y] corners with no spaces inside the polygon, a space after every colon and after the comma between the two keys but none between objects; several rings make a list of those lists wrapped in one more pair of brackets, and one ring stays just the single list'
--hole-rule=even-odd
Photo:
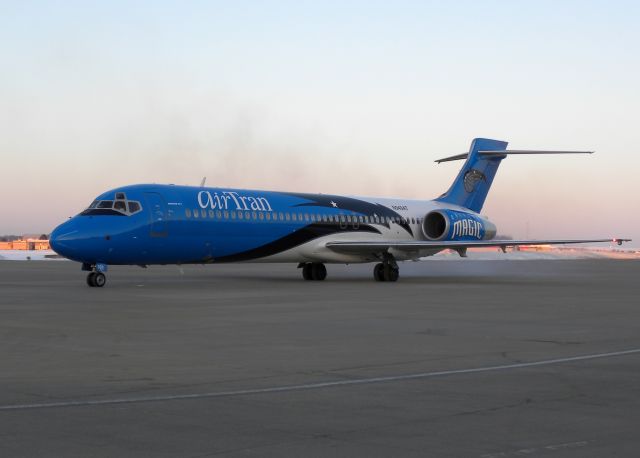
[{"label": "long thin main wing of the jet, below the engine", "polygon": [[567,245],[575,243],[617,243],[629,242],[631,239],[592,239],[592,240],[477,240],[477,241],[354,241],[354,242],[327,242],[327,248],[339,253],[382,253],[391,248],[395,250],[458,250],[478,247],[498,247],[503,250],[513,246],[531,245]]}]

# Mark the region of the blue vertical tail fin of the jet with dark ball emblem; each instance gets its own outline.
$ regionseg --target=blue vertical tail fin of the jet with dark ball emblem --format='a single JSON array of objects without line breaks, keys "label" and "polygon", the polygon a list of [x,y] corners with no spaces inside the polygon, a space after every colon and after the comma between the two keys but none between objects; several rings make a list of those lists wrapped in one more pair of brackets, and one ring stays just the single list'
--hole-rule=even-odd
[{"label": "blue vertical tail fin of the jet with dark ball emblem", "polygon": [[478,151],[504,151],[507,149],[507,145],[507,142],[499,140],[475,138],[471,142],[467,160],[460,169],[460,173],[449,190],[438,197],[436,201],[480,212],[500,166],[500,161],[506,156],[483,156],[478,154]]}]

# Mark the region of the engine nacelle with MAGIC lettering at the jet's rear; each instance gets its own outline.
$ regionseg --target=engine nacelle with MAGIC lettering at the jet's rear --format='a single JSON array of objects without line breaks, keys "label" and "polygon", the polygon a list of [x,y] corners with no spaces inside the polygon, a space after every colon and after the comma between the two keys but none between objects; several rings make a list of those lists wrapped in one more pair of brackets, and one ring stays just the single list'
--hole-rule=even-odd
[{"label": "engine nacelle with MAGIC lettering at the jet's rear", "polygon": [[490,240],[496,226],[475,213],[456,210],[434,210],[422,221],[422,233],[427,240]]}]

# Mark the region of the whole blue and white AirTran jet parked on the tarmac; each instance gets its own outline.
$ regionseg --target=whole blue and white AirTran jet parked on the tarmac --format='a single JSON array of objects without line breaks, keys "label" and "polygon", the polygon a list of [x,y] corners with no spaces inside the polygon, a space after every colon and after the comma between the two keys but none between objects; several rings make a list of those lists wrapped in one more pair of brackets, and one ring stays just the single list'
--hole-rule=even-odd
[{"label": "whole blue and white AirTran jet parked on the tarmac", "polygon": [[591,151],[507,150],[476,138],[447,192],[433,200],[348,197],[201,186],[137,184],[98,196],[51,234],[58,254],[82,263],[87,284],[103,287],[109,265],[296,263],[305,280],[324,280],[325,264],[375,262],[376,281],[395,282],[398,261],[451,249],[629,239],[495,240],[480,214],[498,167],[509,155]]}]

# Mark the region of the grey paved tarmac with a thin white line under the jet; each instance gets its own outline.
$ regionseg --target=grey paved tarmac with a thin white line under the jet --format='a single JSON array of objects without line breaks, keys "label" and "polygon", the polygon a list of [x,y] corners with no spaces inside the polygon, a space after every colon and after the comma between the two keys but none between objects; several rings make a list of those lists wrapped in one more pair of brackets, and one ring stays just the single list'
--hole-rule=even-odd
[{"label": "grey paved tarmac with a thin white line under the jet", "polygon": [[0,261],[0,456],[640,450],[640,261]]}]

